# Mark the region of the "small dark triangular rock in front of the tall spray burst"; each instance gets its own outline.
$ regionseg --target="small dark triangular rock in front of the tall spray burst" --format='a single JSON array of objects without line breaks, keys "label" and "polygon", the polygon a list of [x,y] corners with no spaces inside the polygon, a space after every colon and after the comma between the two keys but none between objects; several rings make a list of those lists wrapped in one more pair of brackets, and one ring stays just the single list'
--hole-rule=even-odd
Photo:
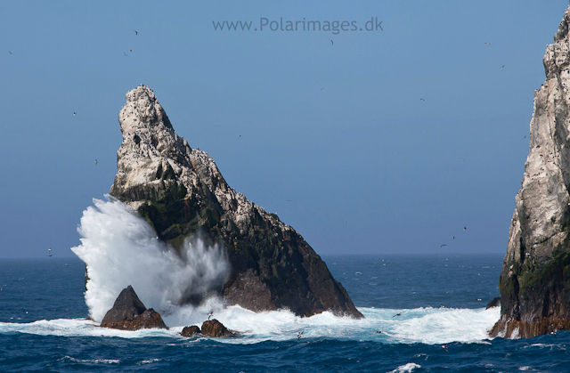
[{"label": "small dark triangular rock in front of the tall spray burst", "polygon": [[138,330],[142,328],[165,328],[159,312],[146,309],[130,285],[123,289],[113,307],[105,313],[102,328]]}]

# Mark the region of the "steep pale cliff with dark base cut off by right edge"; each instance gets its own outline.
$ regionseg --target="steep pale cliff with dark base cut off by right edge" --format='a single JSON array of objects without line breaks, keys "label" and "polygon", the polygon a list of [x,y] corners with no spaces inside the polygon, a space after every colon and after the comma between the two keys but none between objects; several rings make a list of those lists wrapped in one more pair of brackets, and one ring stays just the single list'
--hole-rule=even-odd
[{"label": "steep pale cliff with dark base cut off by right edge", "polygon": [[534,337],[570,327],[570,8],[544,54],[529,154],[501,280],[492,336]]}]

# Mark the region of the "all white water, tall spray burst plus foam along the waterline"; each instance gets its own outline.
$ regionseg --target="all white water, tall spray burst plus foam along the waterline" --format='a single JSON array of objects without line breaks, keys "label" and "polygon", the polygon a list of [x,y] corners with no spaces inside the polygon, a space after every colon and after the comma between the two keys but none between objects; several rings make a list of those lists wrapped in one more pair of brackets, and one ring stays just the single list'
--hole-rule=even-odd
[{"label": "all white water, tall spray burst plus foam along the waterline", "polygon": [[126,331],[97,328],[98,322],[89,320],[39,320],[28,324],[0,322],[0,333],[176,337],[184,326],[201,326],[201,322],[208,319],[208,312],[213,310],[217,320],[240,332],[240,337],[217,339],[221,343],[330,338],[437,345],[485,343],[487,331],[500,317],[499,307],[489,310],[428,307],[359,308],[365,316],[361,320],[338,317],[331,312],[301,318],[287,310],[256,313],[240,306],[224,308],[216,297],[199,307],[181,306],[179,303],[188,296],[188,289],[202,293],[224,284],[230,264],[222,247],[207,247],[202,240],[195,239],[193,244],[186,242],[182,254],[178,255],[156,238],[151,226],[139,215],[116,200],[94,199],[94,207],[85,210],[78,231],[82,236],[81,245],[72,250],[87,265],[90,280],[85,302],[92,319],[101,321],[118,293],[132,285],[142,303],[159,311],[171,328]]}]

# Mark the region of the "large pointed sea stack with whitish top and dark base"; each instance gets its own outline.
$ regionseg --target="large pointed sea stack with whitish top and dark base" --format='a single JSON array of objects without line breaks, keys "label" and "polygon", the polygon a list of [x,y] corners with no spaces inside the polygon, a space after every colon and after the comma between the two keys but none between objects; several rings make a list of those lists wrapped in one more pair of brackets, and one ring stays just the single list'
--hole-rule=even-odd
[{"label": "large pointed sea stack with whitish top and dark base", "polygon": [[330,310],[362,317],[297,231],[230,188],[214,160],[175,133],[150,88],[126,93],[118,121],[123,142],[110,194],[175,249],[197,233],[208,244],[222,243],[232,266],[229,280],[216,289],[225,304],[256,312],[288,308],[300,316]]}]

